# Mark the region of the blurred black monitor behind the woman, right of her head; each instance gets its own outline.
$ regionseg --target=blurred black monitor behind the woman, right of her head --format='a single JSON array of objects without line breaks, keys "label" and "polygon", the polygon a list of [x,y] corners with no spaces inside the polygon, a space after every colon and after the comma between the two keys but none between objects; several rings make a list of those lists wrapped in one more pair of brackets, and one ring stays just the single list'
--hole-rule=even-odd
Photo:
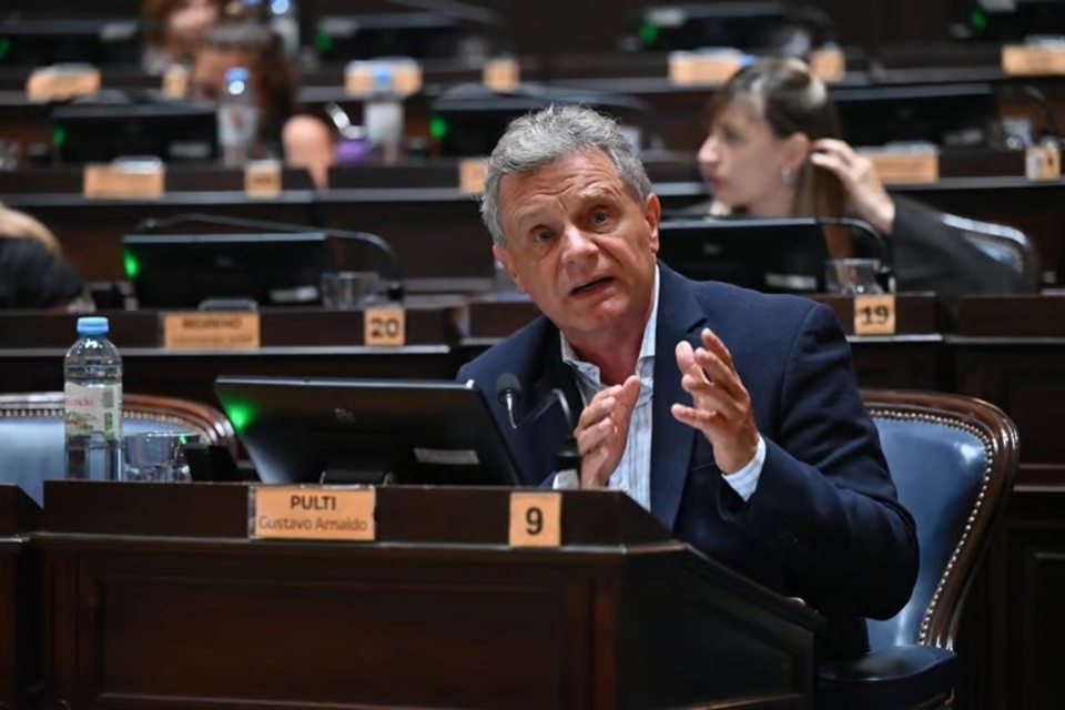
[{"label": "blurred black monitor behind the woman, right of her head", "polygon": [[839,89],[832,100],[852,145],[994,148],[1001,136],[998,100],[990,84]]}]

